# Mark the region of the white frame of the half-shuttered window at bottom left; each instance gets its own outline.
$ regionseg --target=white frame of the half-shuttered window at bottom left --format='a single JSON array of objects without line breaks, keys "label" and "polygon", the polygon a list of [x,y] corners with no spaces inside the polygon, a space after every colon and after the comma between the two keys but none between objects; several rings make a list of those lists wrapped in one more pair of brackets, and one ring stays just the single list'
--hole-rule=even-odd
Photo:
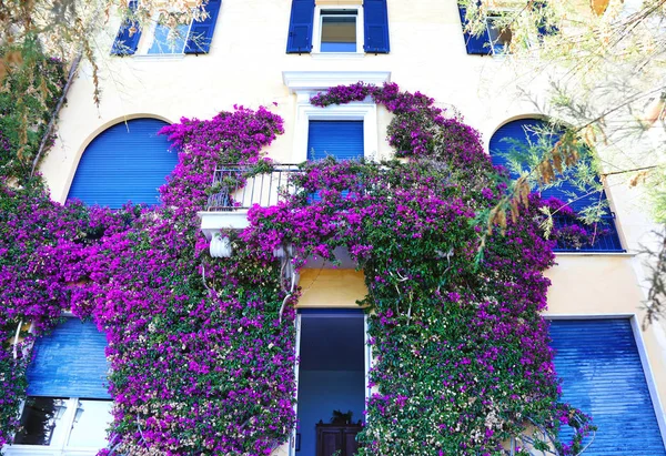
[{"label": "white frame of the half-shuttered window at bottom left", "polygon": [[[37,397],[37,396],[29,396]],[[95,402],[104,402],[111,404],[111,399],[89,399],[85,397],[62,397],[67,403],[67,409],[62,417],[60,418],[61,425],[64,430],[62,437],[56,442],[51,442],[50,445],[23,445],[16,444],[11,446],[7,446],[3,448],[4,454],[7,456],[23,456],[23,455],[40,455],[40,456],[94,456],[99,452],[101,447],[105,445],[105,440],[100,443],[99,446],[92,447],[82,447],[82,446],[70,446],[68,444],[72,428],[74,426],[74,419],[77,417],[77,408],[79,406],[79,401],[95,401]],[[26,403],[21,404],[21,414],[23,414],[23,408]],[[109,414],[109,423],[113,420],[113,416]],[[108,427],[108,425],[105,426]]]}]

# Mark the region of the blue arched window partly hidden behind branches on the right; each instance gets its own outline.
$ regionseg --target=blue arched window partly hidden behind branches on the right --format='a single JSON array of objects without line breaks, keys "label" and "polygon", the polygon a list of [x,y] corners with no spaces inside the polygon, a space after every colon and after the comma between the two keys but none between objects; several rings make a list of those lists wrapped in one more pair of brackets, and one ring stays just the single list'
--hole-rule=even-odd
[{"label": "blue arched window partly hidden behind branches on the right", "polygon": [[[558,139],[559,133],[548,132],[548,124],[545,121],[521,119],[505,123],[497,129],[491,138],[488,149],[493,164],[505,166],[512,179],[517,179],[518,173],[508,160],[509,156],[516,155],[516,150],[524,145],[542,148],[545,152],[545,149],[549,149]],[[531,164],[534,165],[534,163]],[[559,232],[555,233],[556,251],[624,252],[615,227],[614,215],[609,209],[606,210],[606,215],[602,217],[601,222],[593,225],[582,224],[575,216],[572,216],[572,211],[581,212],[599,203],[605,205],[607,203],[605,191],[599,192],[592,188],[581,189],[574,184],[573,178],[565,173],[556,186],[542,191],[541,195],[544,200],[557,199],[565,203],[565,207],[557,211],[553,217],[555,227],[559,229]]]}]

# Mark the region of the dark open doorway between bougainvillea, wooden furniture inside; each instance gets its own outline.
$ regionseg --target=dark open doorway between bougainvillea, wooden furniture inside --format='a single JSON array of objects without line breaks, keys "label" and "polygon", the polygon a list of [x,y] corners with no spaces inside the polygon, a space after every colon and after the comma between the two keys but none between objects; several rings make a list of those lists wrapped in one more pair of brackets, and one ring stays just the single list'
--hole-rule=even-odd
[{"label": "dark open doorway between bougainvillea, wooden furniture inside", "polygon": [[[365,411],[363,312],[304,310],[300,318],[296,455],[329,456],[340,449],[352,456]],[[324,426],[317,428],[320,422]]]}]

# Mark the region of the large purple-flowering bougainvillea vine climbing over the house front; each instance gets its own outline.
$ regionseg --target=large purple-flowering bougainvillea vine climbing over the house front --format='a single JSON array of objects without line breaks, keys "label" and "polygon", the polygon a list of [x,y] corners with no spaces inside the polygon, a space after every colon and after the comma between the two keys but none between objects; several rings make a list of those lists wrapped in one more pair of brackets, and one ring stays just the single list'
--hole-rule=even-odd
[{"label": "large purple-flowering bougainvillea vine climbing over the house front", "polygon": [[[500,454],[509,437],[528,428],[556,436],[562,424],[579,432],[555,448],[577,453],[591,427],[558,403],[539,315],[553,254],[538,199],[484,246],[484,220],[505,188],[478,133],[395,84],[332,88],[312,102],[366,97],[394,114],[390,143],[410,162],[304,163],[292,175],[299,191],[254,206],[248,229],[226,233],[230,259],[210,257],[196,212],[219,164],[270,168],[262,151],[282,120],[263,108],[167,126],[179,164],[157,207],[62,206],[39,185],[2,182],[0,335],[30,321],[39,336],[63,310],[105,332],[114,407],[100,455],[269,455],[284,443],[296,418],[299,297],[284,263],[335,261],[339,246],[370,291],[375,393],[362,454]],[[275,259],[280,249],[291,256]],[[26,386],[27,361],[8,353],[0,444]]]}]

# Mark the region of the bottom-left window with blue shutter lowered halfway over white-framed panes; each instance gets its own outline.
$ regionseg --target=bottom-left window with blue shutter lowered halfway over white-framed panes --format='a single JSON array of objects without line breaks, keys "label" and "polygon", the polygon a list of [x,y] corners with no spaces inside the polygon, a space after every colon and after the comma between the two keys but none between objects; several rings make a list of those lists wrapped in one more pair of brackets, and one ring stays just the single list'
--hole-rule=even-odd
[{"label": "bottom-left window with blue shutter lowered halfway over white-framed panes", "polygon": [[105,346],[105,335],[79,318],[34,342],[14,445],[60,450],[105,444],[112,419]]}]

